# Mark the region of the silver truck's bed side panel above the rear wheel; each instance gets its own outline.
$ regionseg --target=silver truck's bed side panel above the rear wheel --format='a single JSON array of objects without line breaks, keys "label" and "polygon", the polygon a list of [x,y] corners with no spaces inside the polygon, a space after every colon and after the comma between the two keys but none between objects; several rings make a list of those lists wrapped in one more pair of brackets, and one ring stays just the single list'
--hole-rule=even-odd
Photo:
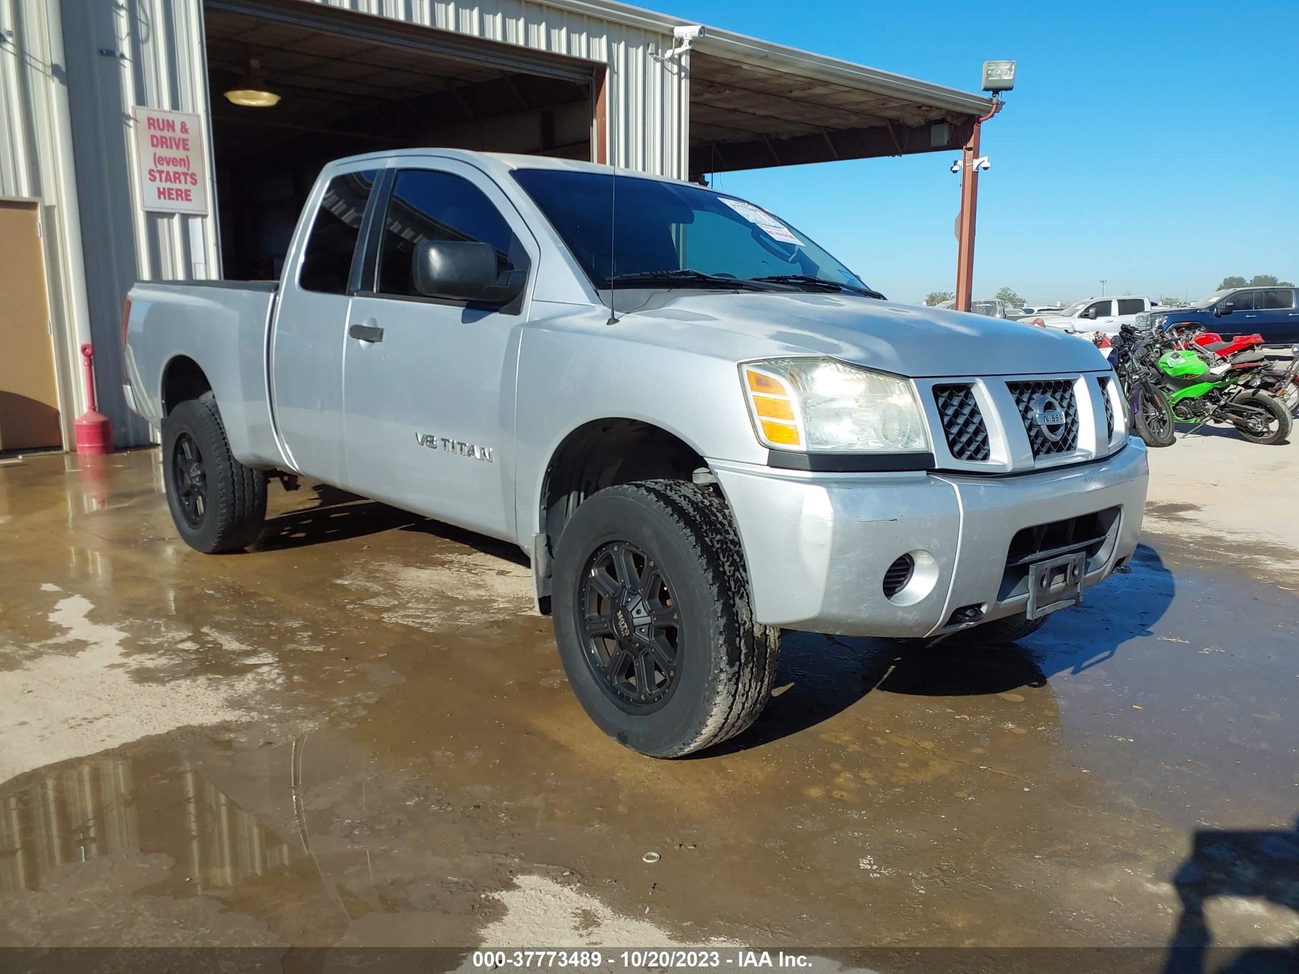
[{"label": "silver truck's bed side panel above the rear wheel", "polygon": [[161,426],[165,382],[199,365],[212,384],[235,457],[283,462],[270,418],[266,343],[279,291],[262,281],[149,281],[131,288],[126,377],[135,410]]}]

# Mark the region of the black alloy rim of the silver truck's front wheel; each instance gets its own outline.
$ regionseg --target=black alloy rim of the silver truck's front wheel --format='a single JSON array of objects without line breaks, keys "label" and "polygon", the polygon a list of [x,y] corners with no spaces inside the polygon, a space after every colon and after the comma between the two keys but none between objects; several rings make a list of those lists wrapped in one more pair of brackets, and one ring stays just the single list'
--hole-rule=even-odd
[{"label": "black alloy rim of the silver truck's front wheel", "polygon": [[677,688],[681,609],[666,573],[627,542],[600,545],[574,606],[586,665],[630,714],[657,710]]}]

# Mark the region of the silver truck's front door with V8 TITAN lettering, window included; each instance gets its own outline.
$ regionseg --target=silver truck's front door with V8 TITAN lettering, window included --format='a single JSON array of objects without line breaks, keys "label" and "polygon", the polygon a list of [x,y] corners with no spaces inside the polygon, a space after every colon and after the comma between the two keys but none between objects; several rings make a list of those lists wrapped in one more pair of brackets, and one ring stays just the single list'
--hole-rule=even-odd
[{"label": "silver truck's front door with V8 TITAN lettering, window included", "polygon": [[423,240],[488,243],[499,273],[517,281],[535,266],[536,243],[500,188],[468,164],[403,160],[386,186],[343,340],[347,487],[512,538],[527,288],[504,306],[426,297],[412,257]]}]

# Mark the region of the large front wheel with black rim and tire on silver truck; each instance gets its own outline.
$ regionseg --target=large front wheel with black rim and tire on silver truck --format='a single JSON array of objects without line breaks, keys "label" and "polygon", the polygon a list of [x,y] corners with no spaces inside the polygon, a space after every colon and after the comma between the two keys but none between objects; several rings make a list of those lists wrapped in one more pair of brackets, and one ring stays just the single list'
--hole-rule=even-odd
[{"label": "large front wheel with black rim and tire on silver truck", "polygon": [[679,757],[746,730],[772,695],[779,630],[752,621],[730,510],[707,487],[608,487],[555,552],[555,639],[605,734]]}]

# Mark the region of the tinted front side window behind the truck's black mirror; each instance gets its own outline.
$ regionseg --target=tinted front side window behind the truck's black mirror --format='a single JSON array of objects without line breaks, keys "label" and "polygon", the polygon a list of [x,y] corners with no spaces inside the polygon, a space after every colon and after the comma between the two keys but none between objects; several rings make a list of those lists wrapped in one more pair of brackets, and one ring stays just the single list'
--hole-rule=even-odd
[{"label": "tinted front side window behind the truck's black mirror", "polygon": [[431,169],[397,173],[383,214],[379,279],[383,295],[421,296],[410,281],[410,258],[425,240],[470,240],[496,251],[498,284],[520,283],[527,253],[491,200],[468,179]]}]

